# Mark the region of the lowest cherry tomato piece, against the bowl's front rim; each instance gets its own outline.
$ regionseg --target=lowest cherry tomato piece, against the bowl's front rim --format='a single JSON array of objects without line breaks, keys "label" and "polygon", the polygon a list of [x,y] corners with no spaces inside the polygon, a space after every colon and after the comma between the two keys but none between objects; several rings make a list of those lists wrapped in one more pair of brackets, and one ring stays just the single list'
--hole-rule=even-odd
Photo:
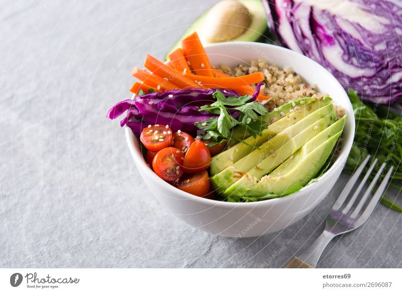
[{"label": "lowest cherry tomato piece, against the bowl's front rim", "polygon": [[210,177],[207,171],[186,174],[180,178],[177,188],[196,196],[206,196],[210,192]]}]

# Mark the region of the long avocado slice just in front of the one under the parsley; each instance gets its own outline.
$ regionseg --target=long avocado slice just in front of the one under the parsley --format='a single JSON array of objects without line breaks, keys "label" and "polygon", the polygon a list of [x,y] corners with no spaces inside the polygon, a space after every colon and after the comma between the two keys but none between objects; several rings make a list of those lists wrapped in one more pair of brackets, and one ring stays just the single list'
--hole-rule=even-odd
[{"label": "long avocado slice just in front of the one under the parsley", "polygon": [[[314,111],[312,114],[308,115],[307,117],[298,121],[297,123],[293,124],[292,126],[284,129],[283,131],[281,131],[280,133],[275,135],[272,139],[264,142],[260,146],[259,150],[254,150],[253,152],[251,152],[250,154],[248,154],[241,160],[234,163],[232,166],[226,168],[225,170],[223,170],[220,173],[213,176],[211,178],[211,182],[212,182],[214,188],[216,188],[216,190],[219,193],[223,193],[229,186],[231,186],[236,181],[238,181],[242,177],[242,175],[244,175],[247,171],[249,171],[254,166],[259,164],[265,158],[269,157],[272,153],[274,153],[277,149],[279,149],[284,143],[291,140],[292,137],[294,137],[298,133],[302,132],[305,128],[316,123],[318,120],[320,120],[321,118],[323,118],[327,115],[331,114],[330,117],[333,117],[332,112],[334,112],[334,107],[332,104],[328,104],[328,105]],[[330,117],[328,117],[329,121],[331,121]],[[296,150],[294,150],[294,151],[296,151]],[[290,156],[290,155],[291,155],[291,153],[288,156]],[[284,158],[284,159],[286,159],[286,158]]]}]

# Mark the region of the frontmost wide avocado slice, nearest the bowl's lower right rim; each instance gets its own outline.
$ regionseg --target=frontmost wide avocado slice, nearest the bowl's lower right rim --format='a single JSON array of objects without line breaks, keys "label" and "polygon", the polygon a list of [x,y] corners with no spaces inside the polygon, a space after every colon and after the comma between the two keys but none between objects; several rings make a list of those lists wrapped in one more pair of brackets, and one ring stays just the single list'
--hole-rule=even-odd
[{"label": "frontmost wide avocado slice, nearest the bowl's lower right rim", "polygon": [[346,115],[310,139],[293,157],[289,157],[260,181],[247,173],[232,185],[225,195],[231,197],[231,201],[248,200],[248,197],[255,200],[259,197],[266,198],[270,194],[284,196],[299,190],[315,178],[327,162],[342,133],[345,121]]}]

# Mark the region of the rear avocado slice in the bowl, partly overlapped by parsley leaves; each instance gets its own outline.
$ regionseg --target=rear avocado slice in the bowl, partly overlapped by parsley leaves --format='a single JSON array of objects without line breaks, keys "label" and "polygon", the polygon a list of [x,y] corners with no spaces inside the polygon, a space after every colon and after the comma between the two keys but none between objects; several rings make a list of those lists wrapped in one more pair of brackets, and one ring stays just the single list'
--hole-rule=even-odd
[{"label": "rear avocado slice in the bowl, partly overlapped by parsley leaves", "polygon": [[[256,138],[252,136],[249,136],[247,138],[242,137],[242,139],[249,145],[259,147],[262,143],[271,139],[277,133],[295,124],[296,122],[302,120],[304,117],[313,113],[320,107],[328,105],[331,101],[332,99],[329,97],[323,100],[317,100],[316,98],[304,98],[284,104],[281,107],[278,107],[276,109],[277,111],[272,111],[262,116],[263,121],[265,121],[268,124],[270,123],[272,124],[268,125],[266,129],[261,131],[261,136],[257,136]],[[302,107],[302,110],[300,112],[295,111],[290,113],[290,110],[297,106]],[[286,116],[283,117],[283,114],[281,113],[283,113],[284,115],[290,113],[289,118]],[[246,134],[244,133],[244,128],[242,129],[243,129],[243,136],[246,136]],[[213,157],[211,159],[211,174],[215,175],[218,172],[221,172],[225,168],[233,165],[233,163],[239,161],[246,155],[250,154],[254,149],[251,148],[251,146],[249,145],[246,145],[242,142],[238,142],[236,145]]]}]

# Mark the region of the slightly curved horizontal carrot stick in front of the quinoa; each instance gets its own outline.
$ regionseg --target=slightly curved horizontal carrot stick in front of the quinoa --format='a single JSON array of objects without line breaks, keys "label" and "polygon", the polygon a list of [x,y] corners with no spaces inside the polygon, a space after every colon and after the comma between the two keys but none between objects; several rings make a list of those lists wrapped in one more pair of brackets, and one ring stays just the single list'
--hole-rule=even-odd
[{"label": "slightly curved horizontal carrot stick in front of the quinoa", "polygon": [[200,82],[200,84],[212,86],[212,87],[225,87],[228,89],[231,88],[239,88],[246,85],[252,85],[264,80],[264,75],[262,72],[255,72],[250,75],[241,76],[241,77],[229,77],[229,78],[214,78],[214,77],[205,77],[205,76],[196,76],[192,74],[186,74],[186,77],[189,79],[196,81],[196,83]]}]

